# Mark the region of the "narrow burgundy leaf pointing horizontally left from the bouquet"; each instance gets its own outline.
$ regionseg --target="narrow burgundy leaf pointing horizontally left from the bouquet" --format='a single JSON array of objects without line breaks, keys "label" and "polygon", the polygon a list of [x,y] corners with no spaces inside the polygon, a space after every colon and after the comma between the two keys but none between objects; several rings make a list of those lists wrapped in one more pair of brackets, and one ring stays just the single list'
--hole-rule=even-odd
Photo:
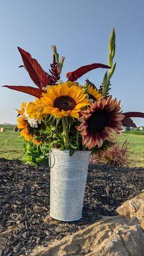
[{"label": "narrow burgundy leaf pointing horizontally left from the bouquet", "polygon": [[19,92],[28,93],[29,95],[33,95],[38,99],[40,99],[40,97],[42,97],[42,92],[45,92],[42,89],[33,88],[31,86],[4,85],[3,87],[10,88],[12,90],[19,91]]}]

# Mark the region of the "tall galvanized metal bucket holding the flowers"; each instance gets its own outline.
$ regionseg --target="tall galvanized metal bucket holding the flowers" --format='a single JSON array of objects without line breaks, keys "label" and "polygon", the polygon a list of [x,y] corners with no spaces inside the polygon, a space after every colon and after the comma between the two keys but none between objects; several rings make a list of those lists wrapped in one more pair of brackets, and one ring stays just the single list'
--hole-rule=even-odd
[{"label": "tall galvanized metal bucket holding the flowers", "polygon": [[61,221],[81,219],[90,151],[50,152],[50,216]]}]

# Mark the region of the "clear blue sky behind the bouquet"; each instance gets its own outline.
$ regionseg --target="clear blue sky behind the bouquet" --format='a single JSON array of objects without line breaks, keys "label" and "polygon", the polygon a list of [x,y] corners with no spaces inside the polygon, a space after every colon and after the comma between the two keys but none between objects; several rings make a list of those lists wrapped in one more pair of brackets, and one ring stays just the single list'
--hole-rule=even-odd
[{"label": "clear blue sky behind the bouquet", "polygon": [[[124,111],[144,111],[144,1],[143,0],[13,0],[0,1],[0,84],[32,85],[17,46],[35,57],[44,70],[52,62],[51,45],[65,56],[65,74],[82,65],[108,60],[108,39],[116,31],[116,71],[111,79],[113,97]],[[79,79],[102,83],[104,69]],[[14,108],[34,98],[0,88],[0,123],[16,123]],[[144,120],[136,120],[144,125]]]}]

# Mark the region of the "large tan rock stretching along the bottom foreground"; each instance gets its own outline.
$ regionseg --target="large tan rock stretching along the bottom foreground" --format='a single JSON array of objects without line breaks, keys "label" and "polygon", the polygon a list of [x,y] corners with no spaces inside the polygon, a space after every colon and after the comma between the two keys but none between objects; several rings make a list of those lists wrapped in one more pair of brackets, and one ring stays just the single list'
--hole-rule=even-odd
[{"label": "large tan rock stretching along the bottom foreground", "polygon": [[39,246],[30,256],[143,256],[144,234],[138,218],[105,217],[83,230]]}]

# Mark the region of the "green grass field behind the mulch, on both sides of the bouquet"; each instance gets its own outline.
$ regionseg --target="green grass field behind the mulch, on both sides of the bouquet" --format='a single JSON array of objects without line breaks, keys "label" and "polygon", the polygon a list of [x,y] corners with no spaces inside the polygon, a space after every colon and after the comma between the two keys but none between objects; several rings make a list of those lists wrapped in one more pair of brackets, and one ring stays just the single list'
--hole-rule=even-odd
[{"label": "green grass field behind the mulch, on both sides of the bouquet", "polygon": [[[0,158],[22,159],[22,141],[19,132],[13,132],[11,125],[0,125],[6,131],[0,132]],[[144,135],[124,132],[118,141],[127,140],[131,143],[131,166],[144,167]]]}]

